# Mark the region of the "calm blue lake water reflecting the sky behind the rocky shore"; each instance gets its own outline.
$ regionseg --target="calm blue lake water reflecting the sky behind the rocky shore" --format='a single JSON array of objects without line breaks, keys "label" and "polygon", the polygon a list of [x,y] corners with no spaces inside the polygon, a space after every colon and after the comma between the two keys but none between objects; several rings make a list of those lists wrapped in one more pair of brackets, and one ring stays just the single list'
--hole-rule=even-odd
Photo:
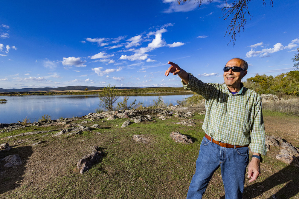
[{"label": "calm blue lake water reflecting the sky behind the rocky shore", "polygon": [[[165,103],[177,104],[192,94],[186,95],[161,95]],[[159,96],[129,96],[128,104],[137,99],[144,106],[153,104]],[[118,98],[123,101],[124,96]],[[16,123],[24,118],[31,122],[38,121],[42,115],[50,115],[51,119],[82,117],[98,108],[98,95],[35,95],[35,96],[1,96],[7,103],[0,104],[0,123]],[[115,104],[116,106],[117,104]]]}]

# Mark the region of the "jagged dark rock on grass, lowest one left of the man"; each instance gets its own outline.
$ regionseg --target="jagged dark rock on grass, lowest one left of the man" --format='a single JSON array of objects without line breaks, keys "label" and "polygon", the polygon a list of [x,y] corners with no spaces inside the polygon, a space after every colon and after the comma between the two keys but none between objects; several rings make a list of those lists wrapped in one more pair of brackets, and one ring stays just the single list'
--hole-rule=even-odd
[{"label": "jagged dark rock on grass, lowest one left of the man", "polygon": [[83,174],[89,170],[94,164],[97,164],[103,158],[103,152],[98,151],[98,147],[92,147],[92,152],[89,155],[84,156],[77,162],[77,168],[80,170],[80,174]]}]

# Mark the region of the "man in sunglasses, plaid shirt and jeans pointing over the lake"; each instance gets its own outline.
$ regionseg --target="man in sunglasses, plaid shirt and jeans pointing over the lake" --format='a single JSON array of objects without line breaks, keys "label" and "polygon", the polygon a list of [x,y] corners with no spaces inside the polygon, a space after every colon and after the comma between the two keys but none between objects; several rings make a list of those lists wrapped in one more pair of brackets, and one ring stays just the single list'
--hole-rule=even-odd
[{"label": "man in sunglasses, plaid shirt and jeans pointing over the lake", "polygon": [[241,79],[247,74],[246,61],[234,58],[223,69],[224,84],[203,83],[177,64],[166,70],[179,75],[187,90],[205,98],[206,115],[202,125],[205,137],[196,160],[196,171],[187,198],[202,198],[213,173],[221,167],[225,198],[242,198],[248,146],[253,156],[248,166],[249,182],[260,176],[261,154],[266,155],[265,130],[261,98],[253,90],[243,87]]}]

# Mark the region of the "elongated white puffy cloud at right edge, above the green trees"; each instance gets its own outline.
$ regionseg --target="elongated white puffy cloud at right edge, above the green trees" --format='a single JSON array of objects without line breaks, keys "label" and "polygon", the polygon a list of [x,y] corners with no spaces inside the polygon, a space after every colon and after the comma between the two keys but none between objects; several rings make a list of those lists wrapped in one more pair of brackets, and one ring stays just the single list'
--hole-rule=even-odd
[{"label": "elongated white puffy cloud at right edge, above the green trees", "polygon": [[252,48],[249,52],[246,53],[246,58],[256,57],[256,56],[267,57],[267,56],[270,56],[269,54],[276,53],[280,50],[295,48],[299,44],[299,39],[297,38],[297,39],[292,40],[291,43],[289,43],[287,46],[283,46],[281,43],[277,43],[277,44],[273,45],[273,48],[263,48],[262,50],[258,50],[258,51],[254,50],[254,48],[256,48],[258,46],[263,47],[262,43],[263,42],[251,45],[250,47],[252,47]]}]

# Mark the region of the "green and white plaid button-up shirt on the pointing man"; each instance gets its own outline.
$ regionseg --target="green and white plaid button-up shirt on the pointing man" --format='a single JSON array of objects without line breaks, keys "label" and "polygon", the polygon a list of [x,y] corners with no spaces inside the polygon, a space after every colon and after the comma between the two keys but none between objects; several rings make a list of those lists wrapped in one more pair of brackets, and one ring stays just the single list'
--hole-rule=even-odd
[{"label": "green and white plaid button-up shirt on the pointing man", "polygon": [[205,98],[206,115],[202,129],[216,141],[244,146],[266,155],[262,100],[253,90],[243,87],[232,94],[226,84],[203,83],[191,73],[185,90]]}]

